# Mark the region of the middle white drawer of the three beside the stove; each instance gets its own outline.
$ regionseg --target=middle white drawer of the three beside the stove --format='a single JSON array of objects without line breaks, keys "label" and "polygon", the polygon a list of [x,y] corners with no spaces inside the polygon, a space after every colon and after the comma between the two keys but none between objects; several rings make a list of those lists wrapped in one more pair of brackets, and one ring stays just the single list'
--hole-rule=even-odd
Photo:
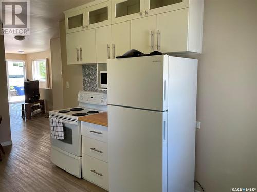
[{"label": "middle white drawer of the three beside the stove", "polygon": [[82,153],[108,162],[108,143],[82,136]]}]

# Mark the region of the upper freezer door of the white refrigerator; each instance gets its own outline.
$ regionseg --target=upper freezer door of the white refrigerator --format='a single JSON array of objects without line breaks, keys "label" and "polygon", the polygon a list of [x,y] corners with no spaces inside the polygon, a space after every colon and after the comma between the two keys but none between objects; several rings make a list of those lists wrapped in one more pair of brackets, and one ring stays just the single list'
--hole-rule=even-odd
[{"label": "upper freezer door of the white refrigerator", "polygon": [[168,55],[108,60],[108,104],[166,111],[168,62]]}]

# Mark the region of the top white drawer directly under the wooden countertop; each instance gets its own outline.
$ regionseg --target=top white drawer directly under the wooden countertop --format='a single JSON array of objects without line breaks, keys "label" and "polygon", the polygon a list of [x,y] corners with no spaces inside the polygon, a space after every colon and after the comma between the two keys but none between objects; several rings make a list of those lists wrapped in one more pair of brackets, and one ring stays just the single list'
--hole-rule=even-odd
[{"label": "top white drawer directly under the wooden countertop", "polygon": [[108,129],[106,126],[82,122],[81,134],[82,136],[108,143]]}]

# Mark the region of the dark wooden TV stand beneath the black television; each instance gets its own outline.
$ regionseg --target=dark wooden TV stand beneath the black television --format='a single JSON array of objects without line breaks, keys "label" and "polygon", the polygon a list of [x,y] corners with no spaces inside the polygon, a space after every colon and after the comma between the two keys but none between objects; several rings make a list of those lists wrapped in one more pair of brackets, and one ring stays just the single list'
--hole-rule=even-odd
[{"label": "dark wooden TV stand beneath the black television", "polygon": [[[20,103],[22,105],[22,118],[31,119],[32,116],[39,113],[45,113],[45,100],[38,100],[33,103]],[[31,114],[32,112],[39,110],[39,113]]]}]

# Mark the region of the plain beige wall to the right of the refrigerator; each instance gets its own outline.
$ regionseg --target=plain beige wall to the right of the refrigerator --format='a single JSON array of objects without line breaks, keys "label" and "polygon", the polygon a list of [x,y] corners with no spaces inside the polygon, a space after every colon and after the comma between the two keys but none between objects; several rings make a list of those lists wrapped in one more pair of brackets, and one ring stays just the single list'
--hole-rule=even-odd
[{"label": "plain beige wall to the right of the refrigerator", "polygon": [[205,0],[203,54],[190,57],[199,59],[196,180],[208,192],[257,188],[257,1]]}]

